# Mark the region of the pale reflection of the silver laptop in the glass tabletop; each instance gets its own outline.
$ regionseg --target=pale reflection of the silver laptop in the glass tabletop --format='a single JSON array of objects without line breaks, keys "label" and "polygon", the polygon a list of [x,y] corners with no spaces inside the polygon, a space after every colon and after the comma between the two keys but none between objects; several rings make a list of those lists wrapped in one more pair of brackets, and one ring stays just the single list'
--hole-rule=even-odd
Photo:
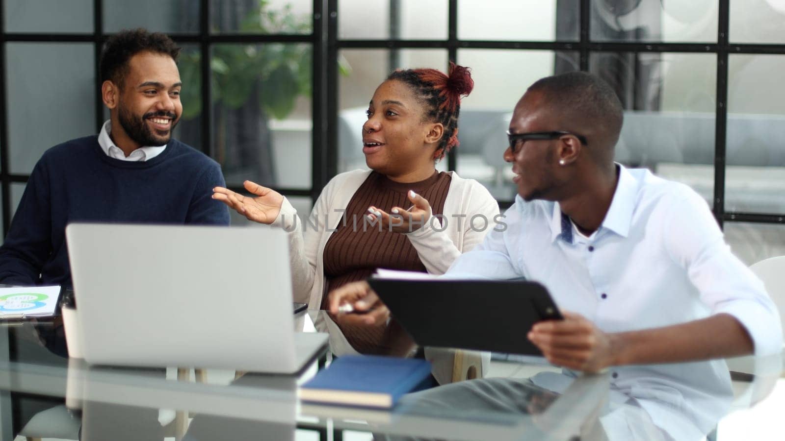
[{"label": "pale reflection of the silver laptop in the glass tabletop", "polygon": [[[148,380],[152,386],[130,386],[131,378]],[[223,389],[212,397],[210,392],[217,390],[152,392],[162,381],[166,382],[161,373],[151,370],[71,366],[66,400],[81,407],[80,439],[294,439],[296,377],[243,374],[228,385],[203,385]],[[277,394],[275,402],[264,403],[261,396],[271,392]],[[176,409],[174,415],[160,410],[166,405]]]}]

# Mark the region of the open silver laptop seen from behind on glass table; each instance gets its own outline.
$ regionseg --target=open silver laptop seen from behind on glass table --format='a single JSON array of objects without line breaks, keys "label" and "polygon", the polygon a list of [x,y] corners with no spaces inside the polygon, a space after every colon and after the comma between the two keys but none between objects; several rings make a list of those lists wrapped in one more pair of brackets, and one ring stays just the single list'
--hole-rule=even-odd
[{"label": "open silver laptop seen from behind on glass table", "polygon": [[276,228],[70,224],[87,363],[300,371],[327,334],[295,333]]}]

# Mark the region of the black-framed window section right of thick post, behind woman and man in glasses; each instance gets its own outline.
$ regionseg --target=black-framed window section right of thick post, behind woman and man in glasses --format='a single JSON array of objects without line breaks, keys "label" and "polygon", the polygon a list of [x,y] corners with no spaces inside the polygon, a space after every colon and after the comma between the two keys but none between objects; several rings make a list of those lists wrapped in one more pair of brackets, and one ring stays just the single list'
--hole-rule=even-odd
[{"label": "black-framed window section right of thick post, behind woman and man in glasses", "polygon": [[[785,9],[774,0],[338,0],[338,169],[361,162],[362,109],[396,67],[473,69],[447,168],[515,195],[502,159],[517,99],[537,78],[590,71],[616,90],[616,160],[703,195],[734,252],[781,254],[785,235]],[[336,126],[333,122],[330,127]],[[354,132],[352,132],[351,127]],[[769,225],[766,225],[769,224]]]}]

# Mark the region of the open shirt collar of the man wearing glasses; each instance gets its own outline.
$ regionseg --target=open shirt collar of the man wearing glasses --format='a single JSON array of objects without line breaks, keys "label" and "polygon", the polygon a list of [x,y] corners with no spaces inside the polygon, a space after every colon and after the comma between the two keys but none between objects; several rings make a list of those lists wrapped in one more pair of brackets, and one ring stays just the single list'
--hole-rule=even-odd
[{"label": "open shirt collar of the man wearing glasses", "polygon": [[[633,221],[633,211],[635,210],[635,199],[637,195],[637,182],[630,172],[621,164],[619,167],[619,182],[613,192],[611,206],[608,213],[600,225],[600,228],[608,228],[617,235],[627,237],[630,233],[630,224]],[[570,218],[561,212],[559,202],[553,202],[553,211],[550,218],[550,240],[553,242],[561,238],[564,242],[572,243],[572,223]]]}]

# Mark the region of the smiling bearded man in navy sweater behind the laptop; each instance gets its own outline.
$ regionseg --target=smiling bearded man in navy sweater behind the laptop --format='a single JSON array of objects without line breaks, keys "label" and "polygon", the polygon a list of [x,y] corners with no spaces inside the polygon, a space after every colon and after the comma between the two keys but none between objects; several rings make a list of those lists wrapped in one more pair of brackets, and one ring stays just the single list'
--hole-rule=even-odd
[{"label": "smiling bearded man in navy sweater behind the laptop", "polygon": [[225,186],[220,166],[172,138],[183,109],[179,52],[143,29],[108,39],[100,79],[110,118],[97,136],[50,148],[35,165],[0,246],[0,283],[71,286],[71,222],[229,224],[228,208],[211,199]]}]

